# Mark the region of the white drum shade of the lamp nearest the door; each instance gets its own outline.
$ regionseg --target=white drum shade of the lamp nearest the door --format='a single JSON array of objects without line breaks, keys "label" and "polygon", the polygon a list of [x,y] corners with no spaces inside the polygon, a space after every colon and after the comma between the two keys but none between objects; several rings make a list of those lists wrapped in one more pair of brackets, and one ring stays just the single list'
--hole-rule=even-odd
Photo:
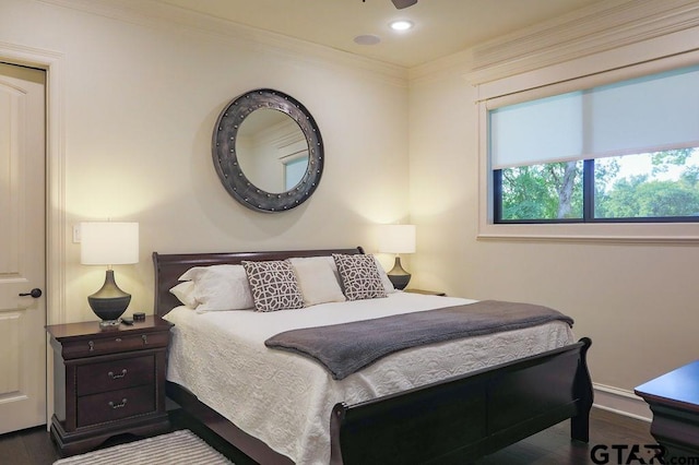
[{"label": "white drum shade of the lamp nearest the door", "polygon": [[139,263],[138,223],[81,223],[80,236],[80,263],[84,265]]}]

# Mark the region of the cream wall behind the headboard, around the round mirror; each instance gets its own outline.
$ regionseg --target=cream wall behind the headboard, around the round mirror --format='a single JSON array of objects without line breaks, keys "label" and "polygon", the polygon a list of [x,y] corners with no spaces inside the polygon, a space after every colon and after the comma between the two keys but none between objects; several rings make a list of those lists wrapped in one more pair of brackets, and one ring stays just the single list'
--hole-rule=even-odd
[{"label": "cream wall behind the headboard, around the round mirror", "polygon": [[[374,251],[372,226],[407,215],[405,70],[293,40],[276,47],[221,22],[192,27],[158,17],[179,17],[169,14],[117,0],[0,2],[0,57],[3,49],[52,53],[62,73],[59,88],[49,88],[61,96],[61,114],[49,124],[60,128],[64,163],[57,194],[64,262],[56,271],[66,288],[62,308],[49,308],[54,323],[94,319],[86,296],[99,288],[104,270],[79,263],[70,229],[81,220],[140,223],[141,261],[116,267],[116,275],[133,295],[128,311],[150,313],[153,251]],[[220,111],[259,87],[300,100],[325,143],[316,193],[291,212],[246,208],[213,168]]]}]

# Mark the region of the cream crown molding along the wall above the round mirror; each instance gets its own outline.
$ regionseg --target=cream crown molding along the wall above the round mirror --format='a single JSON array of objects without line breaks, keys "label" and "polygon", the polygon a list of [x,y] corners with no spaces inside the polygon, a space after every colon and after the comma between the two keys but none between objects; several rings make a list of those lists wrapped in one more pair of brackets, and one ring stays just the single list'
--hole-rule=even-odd
[{"label": "cream crown molding along the wall above the round mirror", "polygon": [[199,33],[277,55],[284,60],[303,61],[318,68],[342,68],[399,87],[407,87],[404,67],[359,57],[306,40],[197,13],[157,0],[38,0],[46,4],[78,10],[152,28]]}]

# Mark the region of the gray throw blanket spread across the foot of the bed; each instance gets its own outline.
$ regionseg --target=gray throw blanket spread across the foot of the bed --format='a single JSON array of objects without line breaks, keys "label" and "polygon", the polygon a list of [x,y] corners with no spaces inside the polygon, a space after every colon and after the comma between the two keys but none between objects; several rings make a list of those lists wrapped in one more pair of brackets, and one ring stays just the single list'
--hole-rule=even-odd
[{"label": "gray throw blanket spread across the foot of the bed", "polygon": [[[300,310],[303,311],[303,310]],[[531,303],[482,300],[475,303],[396,314],[375,320],[292,330],[264,342],[268,347],[311,357],[336,380],[408,347],[536,326],[572,319]]]}]

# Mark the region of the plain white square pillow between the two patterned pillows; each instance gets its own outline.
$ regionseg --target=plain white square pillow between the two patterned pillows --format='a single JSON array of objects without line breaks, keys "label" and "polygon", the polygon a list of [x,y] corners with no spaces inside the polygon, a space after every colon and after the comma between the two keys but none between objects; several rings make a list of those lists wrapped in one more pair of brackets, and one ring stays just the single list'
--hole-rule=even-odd
[{"label": "plain white square pillow between the two patterned pillows", "polygon": [[288,262],[296,273],[306,307],[347,300],[342,294],[332,257],[293,258]]}]

